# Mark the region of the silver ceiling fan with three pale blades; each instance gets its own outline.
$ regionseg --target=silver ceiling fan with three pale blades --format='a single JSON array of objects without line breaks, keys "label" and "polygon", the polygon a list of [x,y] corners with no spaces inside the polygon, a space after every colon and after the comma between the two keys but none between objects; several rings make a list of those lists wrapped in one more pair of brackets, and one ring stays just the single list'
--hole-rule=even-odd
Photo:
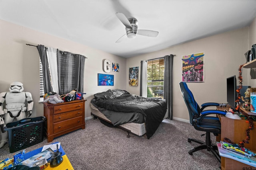
[{"label": "silver ceiling fan with three pale blades", "polygon": [[136,34],[144,35],[148,37],[156,37],[158,35],[158,31],[146,30],[146,29],[138,29],[138,20],[136,18],[126,18],[123,13],[116,13],[118,19],[124,24],[126,29],[126,34],[120,37],[116,43],[120,43],[127,35],[128,38],[135,38]]}]

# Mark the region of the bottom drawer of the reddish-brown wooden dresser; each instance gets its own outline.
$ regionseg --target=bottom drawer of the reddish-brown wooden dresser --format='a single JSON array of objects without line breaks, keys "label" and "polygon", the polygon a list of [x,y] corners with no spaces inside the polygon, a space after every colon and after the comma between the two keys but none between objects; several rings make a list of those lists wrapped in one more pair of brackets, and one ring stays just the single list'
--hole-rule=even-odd
[{"label": "bottom drawer of the reddish-brown wooden dresser", "polygon": [[82,116],[75,117],[73,119],[69,119],[66,121],[60,121],[58,123],[54,123],[54,133],[62,132],[66,129],[70,129],[72,127],[76,127],[78,125],[82,125]]}]

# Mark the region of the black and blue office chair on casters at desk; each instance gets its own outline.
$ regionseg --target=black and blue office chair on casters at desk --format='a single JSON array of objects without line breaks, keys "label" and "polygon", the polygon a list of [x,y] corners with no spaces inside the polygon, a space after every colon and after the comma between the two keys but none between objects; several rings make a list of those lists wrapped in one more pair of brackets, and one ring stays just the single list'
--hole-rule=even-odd
[{"label": "black and blue office chair on casters at desk", "polygon": [[190,149],[188,153],[192,155],[193,152],[196,152],[202,149],[207,149],[208,151],[211,151],[212,154],[214,154],[214,156],[220,162],[218,147],[215,145],[212,145],[212,141],[210,139],[210,133],[213,133],[214,136],[218,136],[218,134],[220,134],[221,132],[220,120],[218,119],[218,117],[207,116],[207,115],[209,114],[226,115],[226,112],[219,111],[219,110],[204,110],[208,106],[219,106],[220,104],[218,103],[205,103],[205,104],[202,104],[202,107],[200,108],[196,103],[196,100],[194,99],[194,96],[192,92],[189,90],[187,84],[185,82],[180,82],[179,84],[180,84],[180,90],[181,90],[183,99],[186,103],[186,106],[188,107],[190,124],[193,125],[196,130],[206,132],[205,142],[188,138],[189,143],[193,141],[200,144],[199,146],[194,147],[193,149]]}]

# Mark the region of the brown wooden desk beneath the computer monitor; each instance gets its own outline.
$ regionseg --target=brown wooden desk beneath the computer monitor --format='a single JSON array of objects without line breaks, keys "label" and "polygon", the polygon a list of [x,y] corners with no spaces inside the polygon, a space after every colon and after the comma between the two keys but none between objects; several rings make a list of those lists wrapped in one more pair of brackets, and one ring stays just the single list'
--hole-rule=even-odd
[{"label": "brown wooden desk beneath the computer monitor", "polygon": [[[228,110],[229,107],[217,107],[217,110]],[[241,120],[237,119],[230,119],[225,116],[219,116],[221,122],[221,137],[220,140],[226,137],[233,141],[234,143],[239,143],[243,139],[246,138],[246,129],[249,127],[249,123],[242,117]],[[254,121],[254,125],[256,125],[256,121]],[[256,151],[256,130],[255,128],[250,131],[250,141],[248,144],[245,144],[244,147],[252,150],[253,152]],[[222,170],[244,170],[244,169],[256,169],[253,166],[249,166],[242,162],[238,162],[236,160],[221,157],[221,169]]]}]

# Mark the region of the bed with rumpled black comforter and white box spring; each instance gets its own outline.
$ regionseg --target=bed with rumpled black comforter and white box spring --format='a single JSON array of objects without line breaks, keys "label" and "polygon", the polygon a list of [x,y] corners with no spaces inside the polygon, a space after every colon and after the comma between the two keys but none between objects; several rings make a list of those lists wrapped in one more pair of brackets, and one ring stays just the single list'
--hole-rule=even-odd
[{"label": "bed with rumpled black comforter and white box spring", "polygon": [[126,90],[107,90],[94,94],[92,115],[138,136],[150,139],[167,117],[166,101],[162,98],[144,98]]}]

